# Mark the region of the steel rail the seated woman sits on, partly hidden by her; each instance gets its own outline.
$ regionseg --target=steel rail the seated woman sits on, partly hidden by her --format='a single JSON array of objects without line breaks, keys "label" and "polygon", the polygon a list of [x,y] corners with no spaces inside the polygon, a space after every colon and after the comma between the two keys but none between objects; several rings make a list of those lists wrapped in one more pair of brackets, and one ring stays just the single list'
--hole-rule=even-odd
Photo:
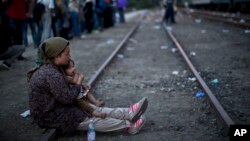
[{"label": "steel rail the seated woman sits on, partly hidden by her", "polygon": [[[90,78],[90,80],[87,82],[88,85],[94,85],[94,83],[97,81],[98,77],[101,75],[103,70],[110,64],[110,62],[113,60],[115,55],[118,53],[118,51],[121,50],[121,48],[125,45],[127,40],[133,35],[133,33],[136,31],[136,29],[141,24],[141,21],[145,17],[145,13],[142,14],[137,21],[137,23],[132,27],[132,29],[125,35],[123,40],[117,45],[115,50],[111,53],[111,55],[106,59],[106,61],[99,67],[99,69],[94,73],[94,75]],[[50,129],[47,131],[45,135],[43,135],[40,139],[40,141],[53,141],[55,140],[57,136],[57,131],[55,129]]]}]

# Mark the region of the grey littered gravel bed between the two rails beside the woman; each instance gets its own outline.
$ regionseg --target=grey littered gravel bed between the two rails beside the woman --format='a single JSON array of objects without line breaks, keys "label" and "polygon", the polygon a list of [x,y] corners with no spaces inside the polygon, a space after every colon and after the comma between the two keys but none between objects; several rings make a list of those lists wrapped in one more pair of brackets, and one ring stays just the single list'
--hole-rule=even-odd
[{"label": "grey littered gravel bed between the two rails beside the woman", "polygon": [[[152,22],[153,19],[149,18],[150,16],[152,16],[151,14],[148,14],[146,21]],[[184,78],[174,78],[175,76],[171,76],[169,78],[168,74],[171,73],[169,72],[171,71],[171,69],[168,70],[167,72],[162,71],[162,69],[168,67],[171,68],[171,66],[175,68],[176,66],[180,65],[182,66],[181,68],[183,69],[186,67],[180,61],[181,60],[180,58],[178,58],[176,61],[169,62],[166,64],[164,60],[165,59],[173,60],[174,55],[171,54],[169,55],[169,57],[166,58],[166,56],[168,55],[166,55],[163,52],[164,50],[161,50],[159,48],[154,49],[156,48],[156,46],[153,45],[153,44],[159,45],[162,42],[165,42],[164,36],[163,39],[161,38],[157,40],[157,37],[160,37],[165,33],[163,30],[160,30],[160,32],[157,33],[156,36],[154,35],[155,33],[153,34],[154,32],[153,30],[157,30],[159,27],[155,25],[152,29],[152,27],[150,26],[152,25],[151,24],[148,25],[144,20],[143,25],[140,26],[137,33],[133,35],[133,37],[130,37],[133,38],[131,40],[134,41],[132,42],[126,42],[125,40],[122,41],[124,43],[126,42],[126,50],[124,49],[123,52],[119,51],[119,53],[123,54],[124,58],[116,59],[113,63],[110,64],[108,68],[100,67],[99,70],[103,70],[101,68],[105,69],[104,72],[102,73],[103,74],[102,77],[96,82],[97,83],[96,87],[93,90],[94,93],[105,94],[105,95],[99,95],[99,97],[106,99],[106,101],[108,101],[109,103],[115,102],[116,104],[113,104],[112,106],[124,105],[124,103],[126,102],[121,101],[121,99],[127,99],[126,101],[133,101],[135,97],[140,98],[142,96],[148,97],[149,104],[153,101],[157,101],[155,105],[151,105],[151,107],[149,106],[148,109],[149,114],[148,115],[146,114],[146,116],[149,117],[149,119],[145,126],[145,129],[142,129],[142,133],[132,137],[132,139],[136,141],[142,141],[145,139],[151,141],[154,140],[153,137],[157,137],[157,140],[165,140],[166,136],[169,136],[170,138],[171,136],[172,138],[174,137],[176,138],[176,133],[178,134],[185,130],[187,130],[184,133],[186,140],[189,139],[192,140],[195,138],[196,139],[198,138],[199,140],[200,136],[208,134],[210,136],[208,138],[211,139],[214,138],[211,137],[212,136],[211,134],[213,133],[219,134],[219,132],[220,133],[225,132],[224,131],[225,129],[223,129],[221,125],[217,123],[218,117],[215,117],[214,114],[211,114],[212,111],[210,106],[208,106],[208,104],[199,103],[199,101],[196,101],[193,98],[193,96],[190,95],[190,92],[188,92],[189,90],[187,89],[189,89],[188,85],[192,84],[190,84],[189,82],[185,82],[189,83],[186,84],[187,85],[186,88],[177,88],[180,87],[178,85],[181,85],[181,87],[183,87],[183,85],[178,84],[179,82],[175,84],[175,82],[185,81],[182,80]],[[144,31],[145,28],[147,29],[147,31]],[[146,36],[145,33],[150,33],[150,34]],[[152,37],[154,37],[154,39],[152,39],[154,40],[154,43],[152,43],[152,41],[150,42],[150,39]],[[143,42],[148,42],[148,43],[144,44],[146,46],[143,45],[141,46],[140,44],[143,44]],[[121,43],[118,46],[120,46]],[[131,46],[132,48],[133,46],[136,46],[134,48],[137,51],[128,51],[129,49],[131,50]],[[111,56],[116,56],[115,55],[116,53],[114,52],[111,53],[112,54]],[[163,60],[160,59],[162,57],[164,58]],[[108,57],[108,58],[113,58],[113,57]],[[107,59],[107,60],[112,60],[112,59]],[[109,62],[107,60],[105,62]],[[156,62],[158,63],[161,62],[161,63],[157,65]],[[162,64],[165,65],[162,66]],[[190,75],[190,73],[187,74]],[[97,78],[97,77],[93,76],[92,78]],[[89,83],[92,82],[91,81],[92,78],[90,78]],[[119,102],[117,103],[117,101]],[[184,105],[179,105],[180,103]],[[201,107],[203,107],[204,109]],[[203,110],[205,111],[206,114],[203,113],[204,112]],[[173,114],[175,112],[177,114]],[[186,119],[182,118],[182,116],[183,117],[187,116],[191,118]],[[204,124],[203,120],[206,121],[207,123]],[[158,123],[157,121],[159,121],[160,123]],[[188,124],[188,122],[190,123]],[[208,125],[211,123],[212,126],[215,127],[210,128],[210,130],[205,129],[208,128]],[[196,130],[196,128],[199,129]],[[211,131],[211,129],[213,129],[213,131]],[[149,131],[151,132],[149,133]],[[192,136],[190,137],[190,134],[192,134],[193,137]],[[224,133],[221,134],[223,135]],[[187,137],[186,135],[188,135],[189,137]],[[72,138],[62,137],[59,138],[59,140],[60,141],[66,141],[69,139],[80,140],[81,138],[85,138],[84,136],[85,135],[83,136],[79,135]],[[124,136],[119,134],[117,135],[115,133],[110,133],[110,134],[100,133],[97,135],[97,137],[98,137],[97,140],[107,140],[107,141],[109,140],[126,141],[129,138],[131,138],[126,135]],[[224,140],[224,137],[221,138],[222,140]],[[181,136],[179,137],[179,139],[181,139]]]}]

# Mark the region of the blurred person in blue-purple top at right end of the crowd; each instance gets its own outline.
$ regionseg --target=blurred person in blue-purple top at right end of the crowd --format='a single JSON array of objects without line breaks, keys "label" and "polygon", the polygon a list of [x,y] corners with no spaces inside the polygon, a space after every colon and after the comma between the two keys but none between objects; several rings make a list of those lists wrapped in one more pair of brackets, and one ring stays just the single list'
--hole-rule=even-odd
[{"label": "blurred person in blue-purple top at right end of the crowd", "polygon": [[124,16],[124,9],[128,6],[127,0],[116,0],[116,6],[119,14],[120,23],[124,23],[125,16]]}]

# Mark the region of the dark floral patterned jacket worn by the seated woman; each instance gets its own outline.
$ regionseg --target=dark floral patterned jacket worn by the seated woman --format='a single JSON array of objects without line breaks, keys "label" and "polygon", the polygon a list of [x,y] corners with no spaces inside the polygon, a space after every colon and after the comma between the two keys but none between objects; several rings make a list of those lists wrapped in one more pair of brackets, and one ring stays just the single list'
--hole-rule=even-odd
[{"label": "dark floral patterned jacket worn by the seated woman", "polygon": [[86,114],[75,105],[80,85],[69,85],[54,65],[45,64],[28,80],[29,106],[34,121],[42,128],[73,133]]}]

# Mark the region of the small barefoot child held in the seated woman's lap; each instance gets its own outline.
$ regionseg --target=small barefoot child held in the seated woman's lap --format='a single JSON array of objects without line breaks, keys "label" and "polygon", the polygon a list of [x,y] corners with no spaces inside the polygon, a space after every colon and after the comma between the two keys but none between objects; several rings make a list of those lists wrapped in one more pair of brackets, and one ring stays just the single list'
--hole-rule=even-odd
[{"label": "small barefoot child held in the seated woman's lap", "polygon": [[[81,90],[81,93],[78,96],[77,104],[81,108],[86,110],[88,113],[90,113],[91,115],[93,115],[95,117],[105,118],[106,113],[98,112],[94,108],[95,106],[97,106],[97,107],[104,106],[105,102],[97,100],[93,96],[93,94],[91,94],[89,92],[90,86],[83,83],[84,77],[76,69],[74,61],[70,60],[69,64],[66,65],[66,66],[63,66],[62,68],[63,68],[63,70],[65,72],[66,79],[70,84],[82,85],[82,90]],[[94,104],[95,106],[92,106],[92,104]]]}]

